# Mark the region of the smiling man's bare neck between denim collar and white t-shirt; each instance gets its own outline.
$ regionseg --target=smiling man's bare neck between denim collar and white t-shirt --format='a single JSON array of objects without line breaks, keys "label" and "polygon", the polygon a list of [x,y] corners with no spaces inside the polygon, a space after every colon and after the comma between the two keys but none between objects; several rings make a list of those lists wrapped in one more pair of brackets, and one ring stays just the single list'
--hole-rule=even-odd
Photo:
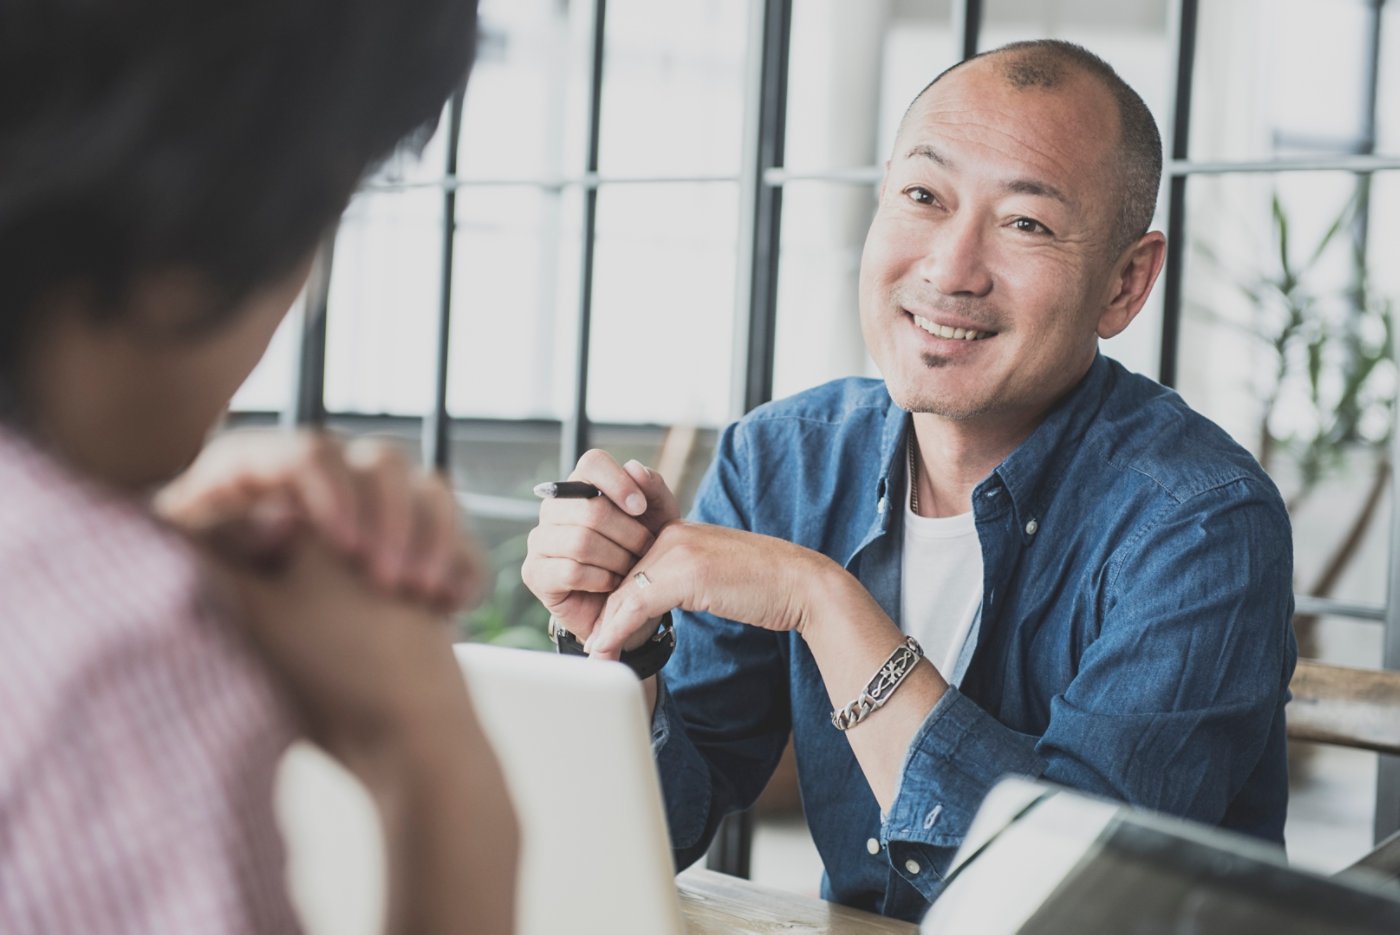
[{"label": "smiling man's bare neck between denim collar and white t-shirt", "polygon": [[1000,430],[914,413],[918,512],[958,516],[972,511],[972,491],[1035,430],[1035,421]]}]

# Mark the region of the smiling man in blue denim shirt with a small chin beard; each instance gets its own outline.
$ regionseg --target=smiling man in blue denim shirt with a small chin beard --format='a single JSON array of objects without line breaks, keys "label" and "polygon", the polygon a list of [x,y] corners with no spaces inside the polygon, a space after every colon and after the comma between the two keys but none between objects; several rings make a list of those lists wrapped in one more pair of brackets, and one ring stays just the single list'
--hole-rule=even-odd
[{"label": "smiling man in blue denim shirt with a small chin beard", "polygon": [[1005,774],[1282,840],[1287,512],[1098,351],[1162,267],[1161,167],[1142,101],[1078,46],[951,69],[904,116],[861,262],[883,381],[731,426],[690,522],[601,452],[575,477],[606,497],[542,507],[525,581],[588,651],[654,666],[636,647],[675,610],[645,686],[680,865],[790,733],[823,893],[888,915],[938,896]]}]

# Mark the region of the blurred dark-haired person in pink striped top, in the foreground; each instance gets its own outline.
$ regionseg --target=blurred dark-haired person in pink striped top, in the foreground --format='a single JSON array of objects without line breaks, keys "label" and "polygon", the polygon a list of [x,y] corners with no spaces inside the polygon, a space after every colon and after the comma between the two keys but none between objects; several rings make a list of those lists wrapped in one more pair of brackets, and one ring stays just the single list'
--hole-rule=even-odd
[{"label": "blurred dark-haired person in pink striped top, in the foreground", "polygon": [[389,931],[511,928],[444,484],[301,437],[151,502],[361,178],[431,130],[475,7],[0,0],[0,929],[297,931],[298,736],[375,796]]}]

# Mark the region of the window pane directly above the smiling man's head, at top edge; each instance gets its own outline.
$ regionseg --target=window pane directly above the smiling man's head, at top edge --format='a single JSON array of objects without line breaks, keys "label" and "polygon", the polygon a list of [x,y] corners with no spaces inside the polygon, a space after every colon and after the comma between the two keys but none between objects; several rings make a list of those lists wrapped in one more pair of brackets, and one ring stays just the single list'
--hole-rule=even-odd
[{"label": "window pane directly above the smiling man's head, at top edge", "polygon": [[[1204,4],[1210,6],[1210,4]],[[1172,126],[1168,0],[987,0],[981,49],[1021,39],[1077,42],[1113,66],[1141,95],[1158,130]]]}]

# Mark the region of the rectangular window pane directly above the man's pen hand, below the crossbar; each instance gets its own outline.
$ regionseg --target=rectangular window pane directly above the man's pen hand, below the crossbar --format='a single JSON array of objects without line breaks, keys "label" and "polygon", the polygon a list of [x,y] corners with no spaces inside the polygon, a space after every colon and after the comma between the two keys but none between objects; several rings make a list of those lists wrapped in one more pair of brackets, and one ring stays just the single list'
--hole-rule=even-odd
[{"label": "rectangular window pane directly above the man's pen hand, below the crossbar", "polygon": [[728,421],[738,224],[728,182],[599,190],[594,421]]}]

